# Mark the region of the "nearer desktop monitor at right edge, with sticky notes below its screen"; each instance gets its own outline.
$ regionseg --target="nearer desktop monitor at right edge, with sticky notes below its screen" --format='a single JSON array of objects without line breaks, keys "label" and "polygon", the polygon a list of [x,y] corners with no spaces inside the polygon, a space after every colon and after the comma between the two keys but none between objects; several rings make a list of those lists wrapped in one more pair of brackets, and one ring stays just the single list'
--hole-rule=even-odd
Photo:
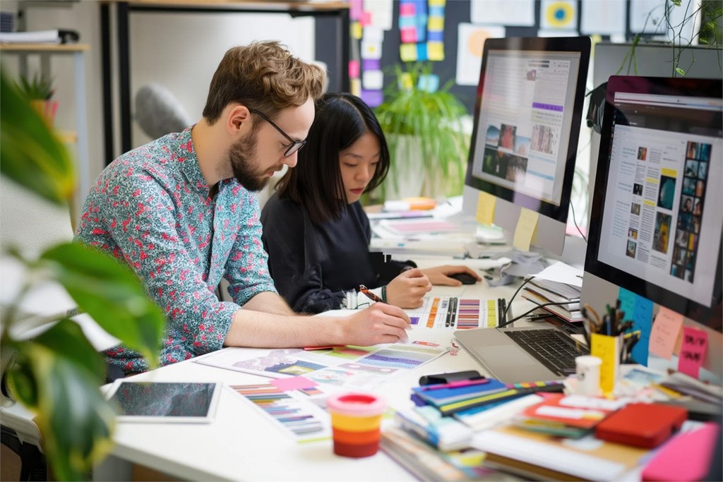
[{"label": "nearer desktop monitor at right edge, with sticky notes below its screen", "polygon": [[[709,332],[722,367],[723,82],[612,76],[581,299],[625,288]],[[601,312],[601,311],[598,311]]]}]

